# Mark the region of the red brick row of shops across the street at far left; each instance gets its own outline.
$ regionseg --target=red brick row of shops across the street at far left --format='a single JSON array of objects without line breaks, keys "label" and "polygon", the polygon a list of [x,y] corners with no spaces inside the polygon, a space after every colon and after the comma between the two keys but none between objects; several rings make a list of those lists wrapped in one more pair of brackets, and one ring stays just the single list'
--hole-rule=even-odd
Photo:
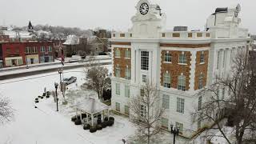
[{"label": "red brick row of shops across the street at far left", "polygon": [[0,43],[0,68],[54,62],[53,48],[53,42]]}]

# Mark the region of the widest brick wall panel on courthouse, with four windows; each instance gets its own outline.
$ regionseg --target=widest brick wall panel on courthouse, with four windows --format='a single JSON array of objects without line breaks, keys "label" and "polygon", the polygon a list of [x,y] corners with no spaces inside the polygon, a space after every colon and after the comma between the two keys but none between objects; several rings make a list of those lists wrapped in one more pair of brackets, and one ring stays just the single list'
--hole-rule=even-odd
[{"label": "widest brick wall panel on courthouse, with four windows", "polygon": [[[164,62],[164,54],[166,51],[169,51],[171,54],[171,63]],[[190,61],[191,61],[191,53],[189,51],[184,51],[186,54],[186,64],[187,65],[179,65],[178,64],[178,55],[182,54],[182,51],[177,50],[162,50],[162,60],[161,60],[161,85],[163,86],[163,74],[168,71],[171,76],[171,87],[177,89],[178,88],[178,76],[183,73],[186,76],[186,90],[190,89]]]}]

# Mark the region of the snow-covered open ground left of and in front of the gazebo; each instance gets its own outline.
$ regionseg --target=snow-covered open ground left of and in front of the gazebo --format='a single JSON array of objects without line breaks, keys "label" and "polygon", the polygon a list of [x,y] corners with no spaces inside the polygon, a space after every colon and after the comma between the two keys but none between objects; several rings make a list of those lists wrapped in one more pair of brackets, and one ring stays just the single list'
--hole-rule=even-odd
[{"label": "snow-covered open ground left of and in front of the gazebo", "polygon": [[[81,86],[85,75],[82,68],[66,70],[64,73],[65,77],[78,78],[71,87]],[[55,104],[53,98],[40,99],[38,108],[34,108],[34,98],[42,95],[44,87],[54,90],[54,82],[59,82],[57,72],[0,82],[0,94],[10,98],[14,108],[14,121],[0,126],[0,143],[122,143],[122,138],[134,134],[134,128],[128,118],[119,116],[114,116],[116,121],[113,127],[91,134],[89,130],[83,130],[82,126],[75,126],[70,121],[70,116],[61,113],[62,110],[55,111],[56,107],[50,106]],[[59,109],[62,109],[62,106]]]}]

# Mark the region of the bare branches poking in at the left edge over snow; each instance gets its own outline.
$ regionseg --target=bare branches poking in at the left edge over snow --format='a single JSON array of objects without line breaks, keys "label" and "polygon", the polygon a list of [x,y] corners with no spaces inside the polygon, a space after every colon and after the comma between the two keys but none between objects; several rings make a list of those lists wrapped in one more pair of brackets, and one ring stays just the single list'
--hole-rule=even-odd
[{"label": "bare branches poking in at the left edge over snow", "polygon": [[[1,96],[2,97],[2,96]],[[0,123],[10,122],[13,118],[13,109],[8,98],[0,98]]]}]

